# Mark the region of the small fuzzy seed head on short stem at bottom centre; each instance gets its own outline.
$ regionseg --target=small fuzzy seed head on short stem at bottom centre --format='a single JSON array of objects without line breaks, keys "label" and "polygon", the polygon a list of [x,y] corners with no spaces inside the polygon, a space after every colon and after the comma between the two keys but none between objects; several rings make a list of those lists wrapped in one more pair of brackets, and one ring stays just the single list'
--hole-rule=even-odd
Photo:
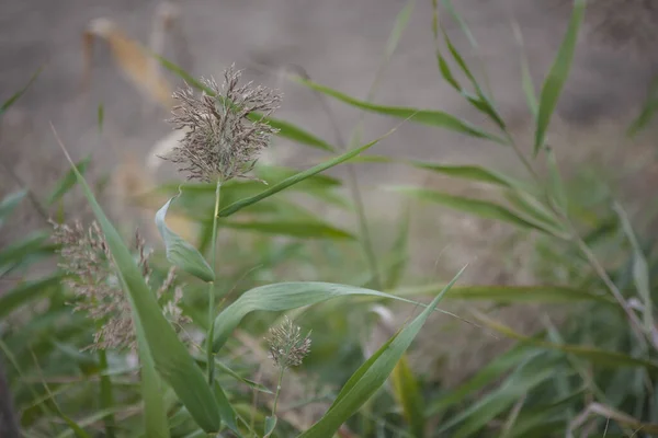
[{"label": "small fuzzy seed head on short stem at bottom centre", "polygon": [[302,328],[287,316],[281,325],[270,328],[266,341],[272,360],[282,369],[298,367],[310,353],[310,332],[303,337]]}]

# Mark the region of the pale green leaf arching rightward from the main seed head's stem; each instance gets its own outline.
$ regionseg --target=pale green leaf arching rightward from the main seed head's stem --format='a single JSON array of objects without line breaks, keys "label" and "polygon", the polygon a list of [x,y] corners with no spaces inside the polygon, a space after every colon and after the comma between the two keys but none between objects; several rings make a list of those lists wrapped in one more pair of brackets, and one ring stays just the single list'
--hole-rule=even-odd
[{"label": "pale green leaf arching rightward from the main seed head's stem", "polygon": [[[337,297],[371,296],[389,298],[416,306],[426,307],[416,301],[396,297],[377,290],[348,285],[321,281],[291,281],[259,286],[242,293],[215,319],[215,351],[217,351],[230,333],[247,314],[260,310],[281,312],[305,306],[317,304]],[[441,312],[441,310],[438,310]]]}]

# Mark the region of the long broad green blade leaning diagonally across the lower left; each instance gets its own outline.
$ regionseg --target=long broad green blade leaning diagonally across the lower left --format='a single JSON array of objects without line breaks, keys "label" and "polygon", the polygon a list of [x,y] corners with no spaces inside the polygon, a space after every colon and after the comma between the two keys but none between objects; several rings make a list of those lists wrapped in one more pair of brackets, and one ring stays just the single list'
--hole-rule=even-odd
[{"label": "long broad green blade leaning diagonally across the lower left", "polygon": [[[53,131],[57,137],[55,128],[53,128]],[[219,410],[203,372],[194,362],[186,347],[178,338],[173,327],[162,315],[155,295],[146,285],[139,267],[123,243],[121,235],[95,200],[84,177],[77,172],[72,160],[59,139],[58,142],[75,170],[78,184],[82,187],[82,192],[105,234],[107,246],[118,268],[118,276],[124,286],[124,291],[131,301],[134,320],[144,332],[155,368],[174,390],[196,424],[207,433],[217,431],[220,426]]]}]

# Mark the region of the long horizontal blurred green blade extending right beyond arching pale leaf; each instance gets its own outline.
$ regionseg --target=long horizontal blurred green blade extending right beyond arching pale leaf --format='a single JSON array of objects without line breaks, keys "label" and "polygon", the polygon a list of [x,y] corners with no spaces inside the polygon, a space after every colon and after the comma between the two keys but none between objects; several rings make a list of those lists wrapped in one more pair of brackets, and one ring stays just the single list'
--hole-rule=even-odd
[{"label": "long horizontal blurred green blade extending right beyond arching pale leaf", "polygon": [[[392,290],[397,297],[434,296],[444,285],[433,284]],[[606,296],[592,293],[585,289],[567,286],[455,286],[447,292],[446,299],[455,300],[491,300],[496,302],[543,302],[569,303],[595,301],[602,304],[616,306]]]}]

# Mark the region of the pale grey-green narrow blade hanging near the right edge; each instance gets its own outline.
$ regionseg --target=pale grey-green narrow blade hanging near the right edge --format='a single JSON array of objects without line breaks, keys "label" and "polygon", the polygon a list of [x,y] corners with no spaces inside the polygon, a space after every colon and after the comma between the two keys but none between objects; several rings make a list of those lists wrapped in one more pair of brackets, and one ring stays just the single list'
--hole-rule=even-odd
[{"label": "pale grey-green narrow blade hanging near the right edge", "polygon": [[649,281],[649,265],[637,237],[635,235],[628,215],[626,215],[626,211],[624,211],[624,208],[619,203],[614,204],[614,211],[619,216],[622,229],[633,249],[633,281],[637,289],[637,295],[642,299],[644,306],[643,316],[645,330],[648,334],[651,334],[656,328],[654,326],[654,301],[651,299],[651,287]]}]

